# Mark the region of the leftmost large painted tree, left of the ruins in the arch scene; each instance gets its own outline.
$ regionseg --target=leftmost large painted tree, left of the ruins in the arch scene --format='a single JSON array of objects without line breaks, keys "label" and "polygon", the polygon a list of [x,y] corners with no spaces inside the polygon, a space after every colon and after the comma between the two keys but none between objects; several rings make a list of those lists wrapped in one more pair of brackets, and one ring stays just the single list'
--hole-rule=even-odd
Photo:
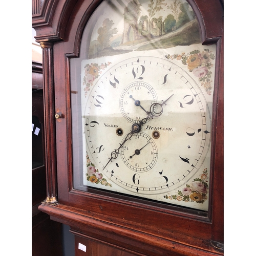
[{"label": "leftmost large painted tree, left of the ruins in the arch scene", "polygon": [[117,33],[117,28],[112,29],[114,25],[113,20],[105,18],[102,22],[102,27],[98,29],[98,42],[101,46],[101,50],[110,47],[110,38]]}]

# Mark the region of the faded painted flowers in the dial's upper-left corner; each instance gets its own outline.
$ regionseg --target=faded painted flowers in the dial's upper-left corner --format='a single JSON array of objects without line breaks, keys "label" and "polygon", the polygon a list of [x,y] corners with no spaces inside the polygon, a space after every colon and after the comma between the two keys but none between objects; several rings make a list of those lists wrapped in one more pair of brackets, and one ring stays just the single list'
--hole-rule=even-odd
[{"label": "faded painted flowers in the dial's upper-left corner", "polygon": [[98,65],[96,63],[87,64],[84,66],[84,77],[83,77],[83,86],[86,86],[84,90],[84,96],[87,96],[88,92],[90,91],[90,87],[93,86],[93,82],[96,78],[99,77],[99,74],[101,74],[102,70],[107,68],[111,62],[108,63],[101,63],[101,65]]}]

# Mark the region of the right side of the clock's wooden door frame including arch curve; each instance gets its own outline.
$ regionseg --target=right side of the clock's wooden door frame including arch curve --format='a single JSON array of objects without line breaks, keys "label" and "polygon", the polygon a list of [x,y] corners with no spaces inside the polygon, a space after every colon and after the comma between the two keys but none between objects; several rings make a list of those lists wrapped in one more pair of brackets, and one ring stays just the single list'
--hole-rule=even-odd
[{"label": "right side of the clock's wooden door frame including arch curve", "polygon": [[[215,105],[212,111],[211,176],[209,193],[209,220],[212,223],[212,241],[224,242],[224,55],[223,1],[191,1],[188,3],[197,15],[203,45],[217,44],[215,73]],[[200,11],[199,11],[200,10]],[[221,245],[222,246],[222,245]]]}]

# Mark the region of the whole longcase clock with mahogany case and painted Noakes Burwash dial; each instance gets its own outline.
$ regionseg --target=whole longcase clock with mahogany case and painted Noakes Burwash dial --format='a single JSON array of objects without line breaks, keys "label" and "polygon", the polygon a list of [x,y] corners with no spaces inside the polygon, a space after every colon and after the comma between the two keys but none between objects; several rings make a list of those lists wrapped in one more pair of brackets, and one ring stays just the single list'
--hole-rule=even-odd
[{"label": "whole longcase clock with mahogany case and painted Noakes Burwash dial", "polygon": [[71,227],[76,255],[222,255],[223,3],[49,0],[32,26],[39,209]]}]

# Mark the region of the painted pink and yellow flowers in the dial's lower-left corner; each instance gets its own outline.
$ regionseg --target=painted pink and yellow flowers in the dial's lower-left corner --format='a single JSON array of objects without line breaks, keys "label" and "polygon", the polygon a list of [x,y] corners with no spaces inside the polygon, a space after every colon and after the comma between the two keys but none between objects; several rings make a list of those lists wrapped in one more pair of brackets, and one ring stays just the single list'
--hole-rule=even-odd
[{"label": "painted pink and yellow flowers in the dial's lower-left corner", "polygon": [[103,178],[103,175],[99,173],[99,170],[96,169],[95,164],[91,162],[88,154],[86,158],[87,158],[87,174],[86,174],[87,180],[95,184],[100,183],[101,185],[112,187],[112,185],[109,182],[107,182],[105,178]]}]

